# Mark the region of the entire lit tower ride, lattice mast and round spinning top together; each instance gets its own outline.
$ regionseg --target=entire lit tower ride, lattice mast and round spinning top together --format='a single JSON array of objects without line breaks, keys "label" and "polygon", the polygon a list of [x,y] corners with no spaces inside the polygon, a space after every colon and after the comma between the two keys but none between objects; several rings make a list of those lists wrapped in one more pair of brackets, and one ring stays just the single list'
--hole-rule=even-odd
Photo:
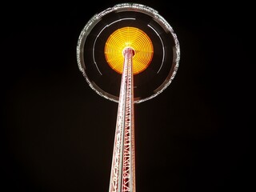
[{"label": "entire lit tower ride, lattice mast and round spinning top together", "polygon": [[97,94],[118,102],[109,192],[135,192],[134,104],[170,85],[179,58],[174,30],[149,6],[118,4],[83,28],[79,70]]}]

